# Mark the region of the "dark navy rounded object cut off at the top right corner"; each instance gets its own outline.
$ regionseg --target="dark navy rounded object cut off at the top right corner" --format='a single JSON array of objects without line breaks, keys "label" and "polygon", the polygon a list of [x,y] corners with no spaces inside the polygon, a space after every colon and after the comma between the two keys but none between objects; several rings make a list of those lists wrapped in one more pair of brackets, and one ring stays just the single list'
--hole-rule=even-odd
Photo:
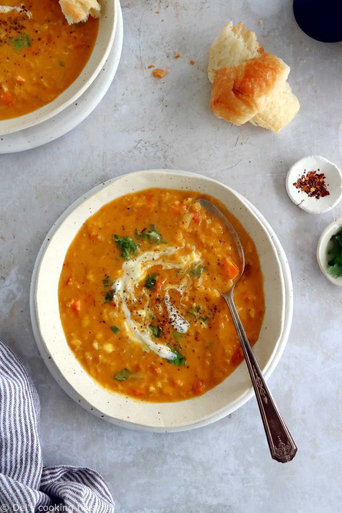
[{"label": "dark navy rounded object cut off at the top right corner", "polygon": [[342,41],[342,0],[294,0],[293,14],[303,32],[317,41]]}]

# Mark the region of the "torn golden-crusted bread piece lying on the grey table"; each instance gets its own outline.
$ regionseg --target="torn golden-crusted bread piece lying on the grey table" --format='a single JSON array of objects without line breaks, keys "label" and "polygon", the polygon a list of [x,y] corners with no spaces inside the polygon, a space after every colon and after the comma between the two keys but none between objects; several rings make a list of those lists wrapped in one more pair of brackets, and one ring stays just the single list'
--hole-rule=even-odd
[{"label": "torn golden-crusted bread piece lying on the grey table", "polygon": [[[224,63],[224,64],[223,64]],[[299,110],[286,82],[290,67],[265,53],[254,32],[228,23],[209,52],[208,77],[213,83],[210,106],[226,121],[279,132]]]}]

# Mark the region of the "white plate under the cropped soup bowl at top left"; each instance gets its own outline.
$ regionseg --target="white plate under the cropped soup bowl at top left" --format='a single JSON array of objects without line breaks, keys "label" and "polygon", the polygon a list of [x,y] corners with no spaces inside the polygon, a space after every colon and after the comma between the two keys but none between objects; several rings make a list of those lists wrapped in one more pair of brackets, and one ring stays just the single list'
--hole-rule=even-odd
[{"label": "white plate under the cropped soup bowl at top left", "polygon": [[82,96],[77,98],[76,102],[49,120],[0,137],[0,155],[31,150],[55,141],[85,120],[102,101],[113,82],[123,47],[123,15],[119,1],[116,0],[116,2],[117,24],[114,43],[102,71],[97,75],[94,82],[90,84]]}]

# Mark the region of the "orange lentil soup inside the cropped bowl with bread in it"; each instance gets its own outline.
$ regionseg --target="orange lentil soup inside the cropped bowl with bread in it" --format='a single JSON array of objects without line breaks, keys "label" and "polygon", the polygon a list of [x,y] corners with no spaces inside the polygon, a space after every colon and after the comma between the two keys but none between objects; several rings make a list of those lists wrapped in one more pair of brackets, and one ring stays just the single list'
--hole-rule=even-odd
[{"label": "orange lentil soup inside the cropped bowl with bread in it", "polygon": [[52,102],[81,73],[97,37],[98,19],[70,26],[57,0],[18,6],[0,0],[0,120]]}]

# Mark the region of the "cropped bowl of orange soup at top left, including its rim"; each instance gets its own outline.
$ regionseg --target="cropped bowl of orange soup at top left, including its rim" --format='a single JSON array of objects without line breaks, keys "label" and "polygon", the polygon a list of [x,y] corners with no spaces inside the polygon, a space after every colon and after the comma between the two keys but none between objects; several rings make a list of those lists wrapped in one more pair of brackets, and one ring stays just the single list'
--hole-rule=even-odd
[{"label": "cropped bowl of orange soup at top left, including its rim", "polygon": [[[68,25],[54,0],[0,6],[0,134],[29,128],[61,112],[89,87],[113,45],[116,0],[101,15]],[[6,5],[5,5],[6,4]]]}]

